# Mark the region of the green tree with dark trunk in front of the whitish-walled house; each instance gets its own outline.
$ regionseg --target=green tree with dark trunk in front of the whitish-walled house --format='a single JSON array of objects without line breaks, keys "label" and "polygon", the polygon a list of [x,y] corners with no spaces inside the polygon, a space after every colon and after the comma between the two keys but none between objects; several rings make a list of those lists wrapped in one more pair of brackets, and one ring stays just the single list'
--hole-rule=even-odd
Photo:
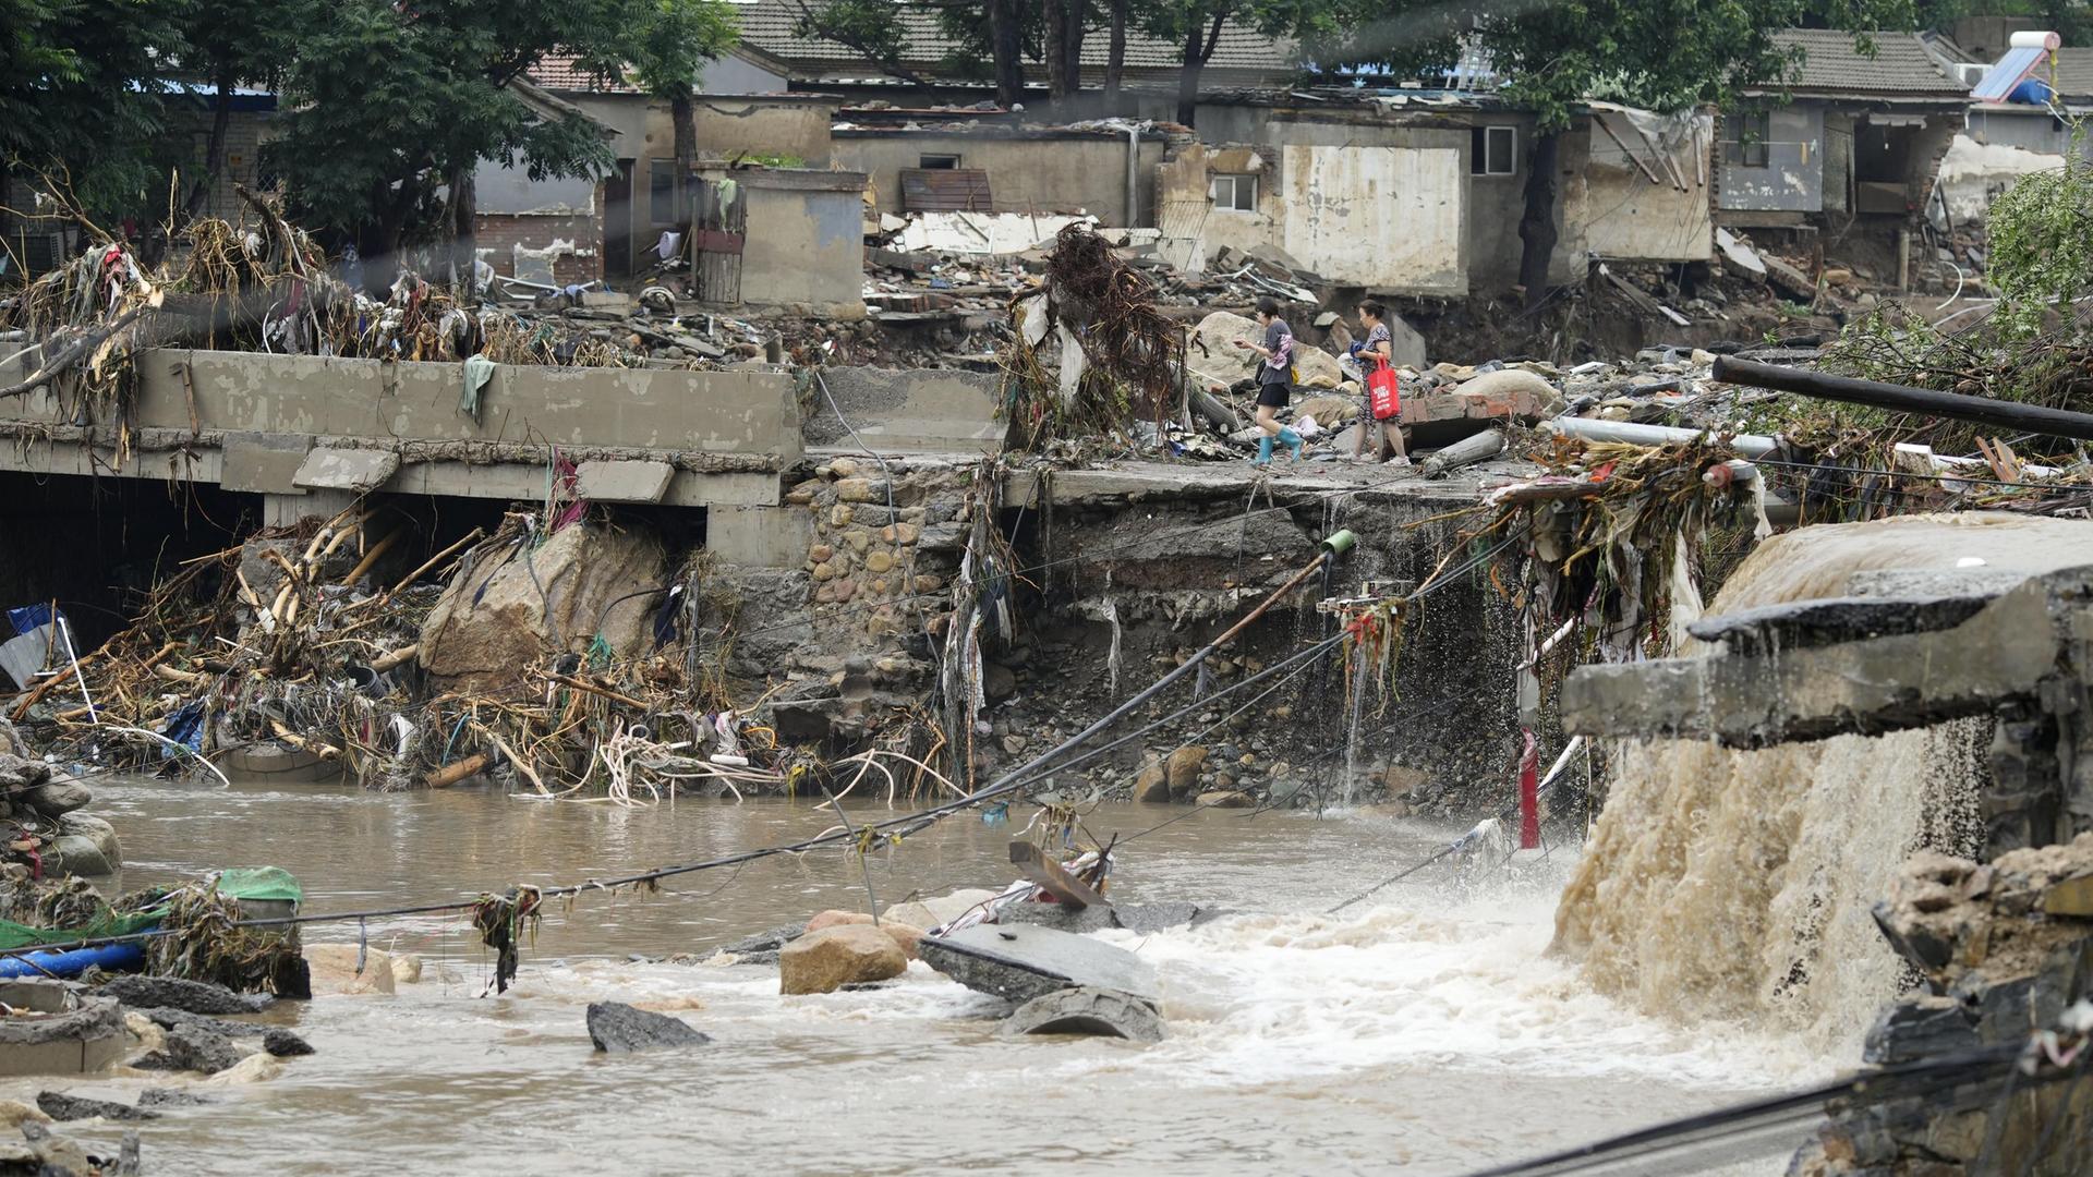
[{"label": "green tree with dark trunk in front of the whitish-walled house", "polygon": [[1578,103],[1610,98],[1651,111],[1731,105],[1743,90],[1794,77],[1800,59],[1779,46],[1779,29],[1854,29],[1871,50],[1867,31],[1917,21],[1911,0],[1563,0],[1482,10],[1461,23],[1423,0],[1406,6],[1423,23],[1404,27],[1398,4],[1386,21],[1363,27],[1348,52],[1396,69],[1448,67],[1471,44],[1490,54],[1505,101],[1538,121],[1520,218],[1520,283],[1530,306],[1547,297],[1557,157]]}]

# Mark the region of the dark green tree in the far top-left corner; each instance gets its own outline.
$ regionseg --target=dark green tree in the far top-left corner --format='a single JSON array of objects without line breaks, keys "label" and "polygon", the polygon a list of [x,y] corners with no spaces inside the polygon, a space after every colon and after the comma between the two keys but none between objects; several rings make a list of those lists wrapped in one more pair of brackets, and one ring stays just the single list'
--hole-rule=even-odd
[{"label": "dark green tree in the far top-left corner", "polygon": [[180,17],[174,0],[0,0],[0,172],[52,176],[90,216],[136,212]]}]

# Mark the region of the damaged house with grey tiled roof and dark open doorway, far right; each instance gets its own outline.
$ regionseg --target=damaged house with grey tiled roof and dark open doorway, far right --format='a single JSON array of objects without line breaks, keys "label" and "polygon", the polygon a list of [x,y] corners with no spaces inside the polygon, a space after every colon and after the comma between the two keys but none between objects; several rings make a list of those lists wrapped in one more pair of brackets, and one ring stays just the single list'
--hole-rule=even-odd
[{"label": "damaged house with grey tiled roof and dark open doorway, far right", "polygon": [[1911,228],[1970,109],[1970,88],[1919,34],[1790,29],[1804,52],[1785,94],[1760,90],[1723,111],[1716,224],[1840,245],[1903,272]]}]

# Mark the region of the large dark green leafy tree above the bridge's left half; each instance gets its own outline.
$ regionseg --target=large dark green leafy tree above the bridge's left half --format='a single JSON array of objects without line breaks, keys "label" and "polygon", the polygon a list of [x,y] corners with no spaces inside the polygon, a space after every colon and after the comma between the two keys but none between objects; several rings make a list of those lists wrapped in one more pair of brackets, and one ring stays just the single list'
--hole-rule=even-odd
[{"label": "large dark green leafy tree above the bridge's left half", "polygon": [[[293,209],[391,258],[410,226],[454,239],[471,260],[479,161],[532,178],[613,165],[601,128],[534,111],[511,86],[546,52],[607,71],[634,57],[651,0],[295,0],[283,132],[270,157]],[[444,214],[446,224],[433,224]]]}]

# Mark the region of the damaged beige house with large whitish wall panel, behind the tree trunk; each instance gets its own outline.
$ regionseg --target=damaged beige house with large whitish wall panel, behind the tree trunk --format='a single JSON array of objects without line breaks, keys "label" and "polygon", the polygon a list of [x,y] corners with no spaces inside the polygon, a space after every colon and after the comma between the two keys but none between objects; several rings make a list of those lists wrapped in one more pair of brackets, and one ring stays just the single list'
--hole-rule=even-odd
[{"label": "damaged beige house with large whitish wall panel, behind the tree trunk", "polygon": [[[1517,281],[1532,115],[1490,90],[1214,94],[1199,140],[1157,168],[1164,256],[1277,249],[1331,283],[1398,295]],[[1708,115],[1593,103],[1563,134],[1551,281],[1593,262],[1704,262]]]}]

